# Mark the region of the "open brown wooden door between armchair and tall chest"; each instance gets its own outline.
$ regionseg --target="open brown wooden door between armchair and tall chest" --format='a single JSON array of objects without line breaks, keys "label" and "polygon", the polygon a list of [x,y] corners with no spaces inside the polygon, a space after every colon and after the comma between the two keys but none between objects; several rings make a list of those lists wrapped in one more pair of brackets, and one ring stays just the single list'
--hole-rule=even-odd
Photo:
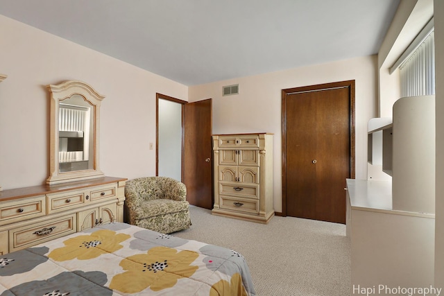
[{"label": "open brown wooden door between armchair and tall chest", "polygon": [[185,173],[190,204],[212,209],[212,99],[185,104]]}]

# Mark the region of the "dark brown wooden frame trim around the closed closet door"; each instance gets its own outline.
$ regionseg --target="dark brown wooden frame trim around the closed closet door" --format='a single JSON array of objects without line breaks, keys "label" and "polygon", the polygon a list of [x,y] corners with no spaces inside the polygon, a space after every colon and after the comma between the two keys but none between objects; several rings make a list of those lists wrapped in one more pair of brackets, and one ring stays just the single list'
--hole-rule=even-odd
[{"label": "dark brown wooden frame trim around the closed closet door", "polygon": [[319,92],[325,89],[343,87],[349,90],[350,178],[355,179],[355,80],[282,89],[282,213],[276,213],[277,216],[287,216],[287,95],[301,92]]}]

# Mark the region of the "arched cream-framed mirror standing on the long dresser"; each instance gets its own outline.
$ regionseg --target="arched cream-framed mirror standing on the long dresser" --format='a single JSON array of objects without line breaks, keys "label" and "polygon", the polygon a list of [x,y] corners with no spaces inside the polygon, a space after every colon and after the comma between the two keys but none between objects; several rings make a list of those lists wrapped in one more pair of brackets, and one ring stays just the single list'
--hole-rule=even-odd
[{"label": "arched cream-framed mirror standing on the long dresser", "polygon": [[99,168],[99,114],[104,96],[85,82],[48,85],[51,94],[47,184],[103,177]]}]

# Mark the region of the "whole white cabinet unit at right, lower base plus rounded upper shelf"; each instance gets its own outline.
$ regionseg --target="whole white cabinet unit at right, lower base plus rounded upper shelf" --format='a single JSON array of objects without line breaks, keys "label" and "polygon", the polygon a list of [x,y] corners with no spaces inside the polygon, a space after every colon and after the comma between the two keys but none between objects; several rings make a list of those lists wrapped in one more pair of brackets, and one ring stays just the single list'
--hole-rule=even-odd
[{"label": "whole white cabinet unit at right, lower base plus rounded upper shelf", "polygon": [[435,97],[400,98],[393,122],[369,121],[368,139],[368,180],[347,180],[352,287],[429,286],[435,252]]}]

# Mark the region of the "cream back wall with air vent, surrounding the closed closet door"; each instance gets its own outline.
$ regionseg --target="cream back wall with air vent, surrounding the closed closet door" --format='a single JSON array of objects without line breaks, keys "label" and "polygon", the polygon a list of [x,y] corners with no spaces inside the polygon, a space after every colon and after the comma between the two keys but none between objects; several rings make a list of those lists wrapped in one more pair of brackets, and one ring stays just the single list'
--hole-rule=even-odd
[{"label": "cream back wall with air vent, surrounding the closed closet door", "polygon": [[[272,132],[274,209],[282,211],[281,90],[356,80],[356,178],[367,178],[367,123],[376,116],[377,58],[368,56],[189,87],[189,101],[213,99],[213,133]],[[239,95],[222,96],[239,83]]]}]

